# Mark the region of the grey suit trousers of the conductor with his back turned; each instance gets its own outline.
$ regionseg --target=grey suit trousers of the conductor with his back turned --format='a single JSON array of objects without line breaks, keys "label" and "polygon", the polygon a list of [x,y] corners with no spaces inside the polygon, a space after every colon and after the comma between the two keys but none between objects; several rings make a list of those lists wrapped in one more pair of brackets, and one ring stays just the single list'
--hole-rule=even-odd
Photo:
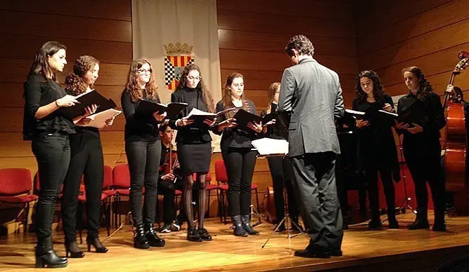
[{"label": "grey suit trousers of the conductor with his back turned", "polygon": [[335,154],[311,153],[291,158],[294,188],[311,243],[340,250],[342,214],[335,187]]}]

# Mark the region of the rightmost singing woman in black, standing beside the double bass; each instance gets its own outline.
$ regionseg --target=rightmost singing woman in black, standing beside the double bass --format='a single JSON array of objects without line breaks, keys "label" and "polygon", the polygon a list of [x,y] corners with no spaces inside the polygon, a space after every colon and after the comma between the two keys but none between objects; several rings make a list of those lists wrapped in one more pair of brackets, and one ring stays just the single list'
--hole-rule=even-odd
[{"label": "rightmost singing woman in black, standing beside the double bass", "polygon": [[416,187],[417,217],[409,229],[428,229],[428,191],[427,182],[432,191],[433,206],[435,208],[435,223],[433,231],[445,231],[444,223],[444,180],[441,178],[441,145],[439,144],[439,130],[446,121],[439,96],[425,79],[422,69],[406,67],[402,70],[404,83],[409,94],[401,97],[397,104],[397,114],[401,114],[420,100],[425,104],[425,118],[420,123],[397,123],[399,133],[404,134],[404,158],[409,166],[413,184]]}]

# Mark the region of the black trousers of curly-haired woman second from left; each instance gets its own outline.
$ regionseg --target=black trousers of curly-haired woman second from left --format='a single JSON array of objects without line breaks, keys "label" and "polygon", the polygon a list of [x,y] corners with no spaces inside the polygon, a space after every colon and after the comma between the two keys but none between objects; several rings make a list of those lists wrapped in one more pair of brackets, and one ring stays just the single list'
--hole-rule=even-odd
[{"label": "black trousers of curly-haired woman second from left", "polygon": [[62,219],[65,242],[75,241],[77,196],[84,175],[86,188],[86,229],[88,236],[98,238],[101,191],[104,178],[103,147],[99,134],[82,131],[70,135],[71,158],[63,184]]}]

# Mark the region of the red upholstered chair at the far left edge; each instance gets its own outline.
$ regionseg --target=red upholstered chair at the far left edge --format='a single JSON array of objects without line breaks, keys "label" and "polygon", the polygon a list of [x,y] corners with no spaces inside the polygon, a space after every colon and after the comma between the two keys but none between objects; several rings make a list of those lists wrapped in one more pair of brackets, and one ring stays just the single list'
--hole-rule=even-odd
[{"label": "red upholstered chair at the far left edge", "polygon": [[0,169],[0,204],[12,203],[22,204],[23,208],[16,217],[25,212],[23,229],[27,232],[27,217],[30,211],[30,203],[35,202],[37,195],[31,194],[32,180],[31,172],[25,168]]}]

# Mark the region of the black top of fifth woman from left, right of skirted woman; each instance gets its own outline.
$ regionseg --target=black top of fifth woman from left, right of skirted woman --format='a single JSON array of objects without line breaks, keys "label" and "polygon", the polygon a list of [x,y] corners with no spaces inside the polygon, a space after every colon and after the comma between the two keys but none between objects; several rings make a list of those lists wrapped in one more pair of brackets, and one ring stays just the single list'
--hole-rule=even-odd
[{"label": "black top of fifth woman from left, right of skirted woman", "polygon": [[[257,114],[254,102],[252,102],[251,100],[246,101],[248,102],[249,112],[251,114]],[[219,101],[217,103],[217,112],[222,110],[224,110],[223,102]],[[238,111],[238,109],[234,111],[234,114],[236,114],[236,111]],[[219,118],[217,118],[217,123],[223,122],[226,119],[226,114],[224,116],[219,116]],[[215,126],[214,133],[217,133],[219,135],[223,133],[221,135],[220,140],[221,151],[226,151],[229,148],[252,148],[251,141],[257,138],[257,134],[254,130],[248,133],[238,128],[225,128],[224,130],[219,132]]]}]

